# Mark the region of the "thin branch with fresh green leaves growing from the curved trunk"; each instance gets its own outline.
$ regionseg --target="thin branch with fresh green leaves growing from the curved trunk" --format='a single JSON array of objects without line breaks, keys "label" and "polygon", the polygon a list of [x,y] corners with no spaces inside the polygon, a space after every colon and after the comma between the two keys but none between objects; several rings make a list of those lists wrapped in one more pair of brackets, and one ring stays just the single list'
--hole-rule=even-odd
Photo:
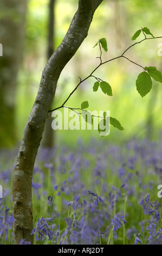
[{"label": "thin branch with fresh green leaves growing from the curved trunk", "polygon": [[[134,45],[136,44],[140,44],[142,41],[144,40],[147,40],[147,39],[156,39],[156,38],[162,38],[162,36],[157,36],[157,37],[154,37],[154,35],[150,32],[150,29],[147,28],[147,27],[144,27],[144,28],[141,28],[139,29],[137,32],[135,32],[135,34],[132,36],[132,40],[135,40],[138,38],[138,36],[141,34],[144,34],[145,38],[138,41],[138,42],[135,42],[134,44],[132,44],[131,46],[127,47],[126,50],[118,57],[115,57],[115,58],[112,58],[112,59],[108,59],[106,60],[105,62],[102,62],[102,51],[101,51],[101,47],[107,52],[107,41],[105,38],[101,38],[99,39],[98,42],[96,42],[96,44],[94,45],[97,46],[99,45],[99,48],[100,48],[100,57],[97,57],[97,58],[100,58],[100,64],[90,73],[90,75],[88,75],[85,79],[81,80],[80,78],[80,82],[77,84],[77,86],[74,88],[74,90],[72,91],[72,93],[70,93],[70,95],[68,96],[68,98],[66,99],[66,101],[63,102],[63,104],[60,106],[60,107],[57,107],[55,109],[49,109],[49,112],[52,112],[56,109],[59,109],[59,108],[62,108],[62,107],[65,107],[65,103],[68,101],[69,97],[72,96],[72,94],[75,92],[75,90],[80,86],[80,84],[83,82],[83,81],[86,81],[89,77],[95,77],[93,74],[94,72],[99,69],[99,67],[103,64],[106,64],[106,63],[109,63],[111,62],[112,60],[115,60],[115,59],[119,59],[119,58],[126,58],[127,60],[129,60],[129,62],[131,63],[134,63],[135,65],[138,65],[140,66],[140,68],[143,69],[143,71],[139,74],[137,80],[136,80],[136,87],[137,87],[137,90],[138,90],[138,93],[144,97],[146,94],[148,94],[148,92],[150,92],[151,88],[152,88],[152,79],[153,78],[155,81],[158,81],[160,83],[162,83],[162,75],[161,75],[161,72],[157,70],[157,68],[155,68],[154,66],[145,66],[145,68],[141,65],[139,65],[138,63],[135,63],[133,62],[132,60],[130,60],[129,58],[127,58],[125,56],[125,53],[131,48],[133,47]],[[152,37],[151,38],[146,38],[146,35],[151,35]],[[112,96],[112,88],[111,86],[105,82],[105,81],[102,81],[100,78],[96,78],[96,82],[94,83],[94,86],[93,86],[93,92],[97,92],[99,87],[101,88],[102,92],[104,94],[107,94],[109,96]],[[88,104],[88,101],[84,101],[82,102],[81,104],[81,108],[70,108],[72,110],[74,109],[82,109],[82,113],[78,113],[78,114],[81,114],[82,117],[85,119],[85,121],[89,124],[93,124],[93,117],[97,117],[95,115],[92,115],[89,111],[85,111],[83,109],[85,108],[88,108],[89,107],[89,104]],[[76,111],[75,111],[76,112]],[[101,121],[99,122],[100,125],[98,125],[98,131],[99,133],[101,133],[102,130],[102,126],[104,128],[105,124],[106,124],[106,121],[108,121],[107,117],[103,114],[103,117],[97,117],[97,118],[102,118]],[[117,129],[119,130],[124,130],[124,128],[121,126],[121,124],[119,123],[118,120],[116,120],[115,118],[112,118],[110,117],[109,118],[109,124],[113,125],[114,127],[116,127]],[[101,135],[101,134],[100,134]]]}]

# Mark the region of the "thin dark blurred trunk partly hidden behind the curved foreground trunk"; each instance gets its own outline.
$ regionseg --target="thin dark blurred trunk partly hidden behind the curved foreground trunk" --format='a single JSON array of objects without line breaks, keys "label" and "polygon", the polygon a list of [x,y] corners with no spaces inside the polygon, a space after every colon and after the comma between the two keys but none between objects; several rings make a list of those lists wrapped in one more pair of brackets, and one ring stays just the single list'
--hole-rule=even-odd
[{"label": "thin dark blurred trunk partly hidden behind the curved foreground trunk", "polygon": [[[55,0],[49,0],[49,24],[48,24],[48,50],[47,58],[49,59],[54,52],[54,36],[55,36]],[[43,147],[51,148],[54,145],[54,130],[51,127],[52,119],[46,120],[43,135]]]}]

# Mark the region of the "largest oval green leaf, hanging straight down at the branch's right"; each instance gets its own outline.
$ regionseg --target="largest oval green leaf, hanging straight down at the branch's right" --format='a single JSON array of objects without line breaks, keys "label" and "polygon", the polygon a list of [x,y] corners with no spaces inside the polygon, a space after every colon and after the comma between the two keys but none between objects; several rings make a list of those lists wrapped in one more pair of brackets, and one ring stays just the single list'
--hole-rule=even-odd
[{"label": "largest oval green leaf, hanging straight down at the branch's right", "polygon": [[152,80],[147,72],[141,72],[136,80],[136,87],[139,94],[144,97],[152,88]]}]

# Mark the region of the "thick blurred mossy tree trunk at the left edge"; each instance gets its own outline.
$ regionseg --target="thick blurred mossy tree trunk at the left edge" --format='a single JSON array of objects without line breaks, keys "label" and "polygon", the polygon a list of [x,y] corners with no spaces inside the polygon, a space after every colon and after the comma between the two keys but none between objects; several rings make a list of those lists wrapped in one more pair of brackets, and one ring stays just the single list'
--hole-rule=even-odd
[{"label": "thick blurred mossy tree trunk at the left edge", "polygon": [[15,95],[18,69],[22,62],[25,14],[27,1],[5,0],[0,3],[0,142],[1,147],[15,145]]}]

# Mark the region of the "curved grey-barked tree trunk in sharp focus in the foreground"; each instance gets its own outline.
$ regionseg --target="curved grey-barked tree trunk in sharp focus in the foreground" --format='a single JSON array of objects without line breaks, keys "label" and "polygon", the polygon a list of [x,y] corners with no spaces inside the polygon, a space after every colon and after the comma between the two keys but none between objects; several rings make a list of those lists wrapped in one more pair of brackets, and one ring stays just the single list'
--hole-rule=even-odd
[{"label": "curved grey-barked tree trunk in sharp focus in the foreground", "polygon": [[61,71],[74,56],[88,34],[93,14],[103,0],[79,0],[79,7],[72,19],[70,27],[60,46],[48,60],[45,66],[40,88],[31,109],[20,150],[18,152],[13,177],[13,207],[15,243],[26,239],[33,243],[30,235],[33,229],[33,209],[31,182],[33,167],[38,147],[42,139],[44,124],[48,110],[53,102],[57,81]]}]

